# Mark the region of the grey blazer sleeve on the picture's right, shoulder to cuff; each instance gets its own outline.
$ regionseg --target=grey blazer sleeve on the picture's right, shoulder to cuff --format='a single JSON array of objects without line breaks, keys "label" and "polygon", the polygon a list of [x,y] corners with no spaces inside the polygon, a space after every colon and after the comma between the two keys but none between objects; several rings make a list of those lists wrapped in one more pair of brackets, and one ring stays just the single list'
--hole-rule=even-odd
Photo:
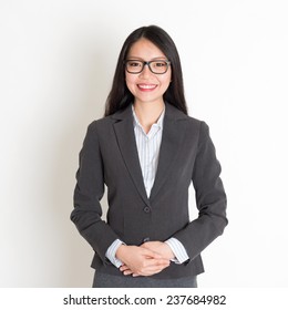
[{"label": "grey blazer sleeve on the picture's right, shoulder to cuff", "polygon": [[220,164],[206,123],[200,123],[197,155],[193,169],[198,217],[174,235],[185,247],[189,259],[197,257],[228,224],[226,194],[219,177]]}]

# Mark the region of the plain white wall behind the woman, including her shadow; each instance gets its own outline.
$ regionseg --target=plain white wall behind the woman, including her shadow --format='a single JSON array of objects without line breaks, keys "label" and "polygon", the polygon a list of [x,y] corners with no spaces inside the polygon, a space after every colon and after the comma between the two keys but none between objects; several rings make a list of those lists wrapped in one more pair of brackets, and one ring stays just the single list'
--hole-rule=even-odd
[{"label": "plain white wall behind the woman, including her shadow", "polygon": [[198,283],[286,287],[287,16],[285,0],[1,0],[0,286],[91,287],[93,254],[69,219],[78,155],[125,38],[154,23],[178,48],[228,195]]}]

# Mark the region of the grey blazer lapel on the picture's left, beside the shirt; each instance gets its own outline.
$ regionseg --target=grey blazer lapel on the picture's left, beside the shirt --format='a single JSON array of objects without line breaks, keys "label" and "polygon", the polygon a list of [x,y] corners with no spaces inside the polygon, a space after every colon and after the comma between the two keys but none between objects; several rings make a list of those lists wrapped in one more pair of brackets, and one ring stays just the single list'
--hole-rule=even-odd
[{"label": "grey blazer lapel on the picture's left, beside the shirt", "polygon": [[131,105],[123,112],[115,113],[112,118],[119,120],[114,123],[114,131],[117,138],[119,147],[130,173],[130,176],[141,195],[144,203],[150,206],[150,200],[145,190],[137,146],[134,136],[133,116]]}]

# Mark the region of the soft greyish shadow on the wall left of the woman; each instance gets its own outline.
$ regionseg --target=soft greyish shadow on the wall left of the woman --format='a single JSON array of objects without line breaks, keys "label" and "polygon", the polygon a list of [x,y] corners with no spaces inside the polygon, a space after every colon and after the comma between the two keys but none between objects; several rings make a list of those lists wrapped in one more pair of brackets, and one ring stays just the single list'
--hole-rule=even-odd
[{"label": "soft greyish shadow on the wall left of the woman", "polygon": [[[80,59],[74,60],[83,62],[82,76],[85,82],[81,81],[82,89],[76,99],[72,100],[71,108],[70,103],[66,102],[65,108],[70,108],[70,113],[68,113],[70,117],[63,120],[63,132],[58,135],[59,140],[50,175],[52,197],[50,211],[54,218],[52,229],[56,230],[54,238],[58,242],[56,248],[54,248],[58,254],[58,257],[54,258],[56,260],[54,265],[58,266],[59,270],[51,270],[53,276],[51,275],[51,279],[47,279],[47,282],[52,282],[54,287],[91,287],[94,273],[90,267],[93,250],[70,220],[79,152],[88,125],[104,114],[104,104],[112,84],[114,63],[116,62],[115,56],[109,55],[106,52],[107,33],[104,41],[97,37],[93,40],[92,45],[82,49],[82,52],[79,53],[78,58]],[[110,44],[113,45],[113,41]],[[116,50],[116,46],[111,48]],[[109,68],[107,63],[113,65]],[[105,214],[105,196],[103,200],[102,206]],[[55,246],[53,245],[53,247]],[[55,272],[58,273],[55,275]]]}]

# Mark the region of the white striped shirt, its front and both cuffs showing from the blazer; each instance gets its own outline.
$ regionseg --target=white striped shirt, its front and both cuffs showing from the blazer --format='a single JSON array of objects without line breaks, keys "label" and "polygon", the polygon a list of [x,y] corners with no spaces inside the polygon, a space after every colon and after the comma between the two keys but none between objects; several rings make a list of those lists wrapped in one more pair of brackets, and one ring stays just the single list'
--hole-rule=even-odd
[{"label": "white striped shirt, its front and both cuffs showing from the blazer", "polygon": [[[143,182],[145,185],[147,197],[150,197],[158,165],[165,110],[162,112],[158,121],[152,125],[147,134],[140,124],[140,121],[134,111],[134,106],[132,106],[132,111],[134,134]],[[182,264],[189,258],[184,246],[176,238],[169,238],[165,242],[171,247],[176,257],[176,259],[173,259],[174,262]],[[115,257],[115,254],[121,245],[123,245],[123,242],[120,239],[116,239],[106,251],[106,257],[117,268],[122,265],[122,262]]]}]

